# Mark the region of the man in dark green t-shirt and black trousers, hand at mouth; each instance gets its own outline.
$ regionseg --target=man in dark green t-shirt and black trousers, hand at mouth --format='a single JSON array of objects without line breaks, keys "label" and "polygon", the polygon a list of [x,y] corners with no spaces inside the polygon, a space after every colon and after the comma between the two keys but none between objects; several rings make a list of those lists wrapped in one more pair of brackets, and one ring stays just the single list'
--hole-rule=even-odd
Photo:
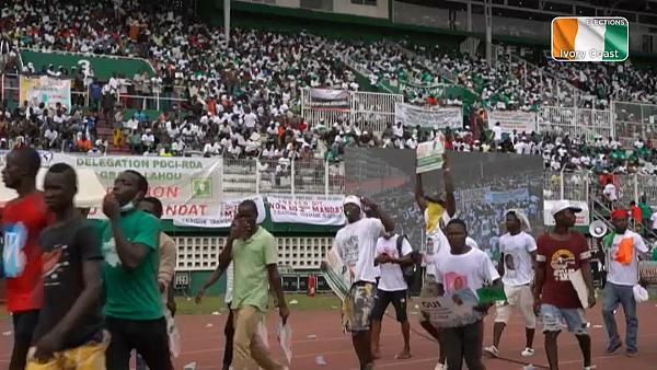
[{"label": "man in dark green t-shirt and black trousers, hand at mouth", "polygon": [[128,369],[132,349],[150,369],[173,370],[158,290],[160,221],[135,205],[148,192],[140,173],[124,171],[103,199],[100,226],[105,279],[105,323],[112,342],[107,369]]}]

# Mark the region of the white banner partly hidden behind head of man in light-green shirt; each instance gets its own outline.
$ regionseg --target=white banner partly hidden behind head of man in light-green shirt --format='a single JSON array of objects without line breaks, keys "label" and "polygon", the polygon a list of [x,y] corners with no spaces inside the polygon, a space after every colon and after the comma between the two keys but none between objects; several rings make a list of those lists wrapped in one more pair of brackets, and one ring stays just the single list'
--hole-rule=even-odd
[{"label": "white banner partly hidden behind head of man in light-green shirt", "polygon": [[173,224],[176,227],[192,228],[229,228],[238,213],[238,206],[246,199],[255,201],[255,205],[257,206],[257,223],[264,222],[267,211],[265,209],[263,197],[258,195],[238,199],[223,199],[220,205],[220,211],[217,215],[204,217],[175,217],[173,219]]}]

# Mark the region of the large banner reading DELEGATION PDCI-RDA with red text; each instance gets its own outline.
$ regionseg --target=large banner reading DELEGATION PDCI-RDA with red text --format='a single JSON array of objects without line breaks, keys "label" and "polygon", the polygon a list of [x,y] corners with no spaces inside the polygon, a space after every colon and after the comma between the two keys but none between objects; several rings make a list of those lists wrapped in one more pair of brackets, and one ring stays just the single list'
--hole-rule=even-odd
[{"label": "large banner reading DELEGATION PDCI-RDA with red text", "polygon": [[[68,163],[74,169],[91,169],[103,187],[111,190],[116,176],[135,170],[148,180],[148,195],[162,201],[163,219],[175,217],[208,217],[219,215],[222,197],[222,160],[216,158],[161,158],[137,155],[71,155],[53,153],[53,163]],[[90,218],[103,218],[92,208]]]}]

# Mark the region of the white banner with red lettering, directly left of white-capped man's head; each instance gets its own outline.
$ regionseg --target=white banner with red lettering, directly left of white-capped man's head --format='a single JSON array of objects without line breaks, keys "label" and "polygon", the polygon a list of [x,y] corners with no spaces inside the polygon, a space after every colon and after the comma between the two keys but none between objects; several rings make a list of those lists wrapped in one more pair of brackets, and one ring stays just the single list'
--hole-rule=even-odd
[{"label": "white banner with red lettering, directly left of white-capped man's head", "polygon": [[343,200],[304,200],[267,197],[273,222],[342,226],[346,219]]}]

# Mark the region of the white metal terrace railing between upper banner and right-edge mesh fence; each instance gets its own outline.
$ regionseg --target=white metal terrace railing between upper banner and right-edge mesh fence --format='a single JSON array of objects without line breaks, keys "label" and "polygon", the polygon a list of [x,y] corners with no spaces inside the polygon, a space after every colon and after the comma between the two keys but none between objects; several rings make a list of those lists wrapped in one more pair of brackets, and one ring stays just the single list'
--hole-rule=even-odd
[{"label": "white metal terrace railing between upper banner and right-edge mesh fence", "polygon": [[592,139],[600,135],[613,137],[614,123],[611,111],[588,109],[563,106],[542,106],[538,118],[539,132],[569,134],[570,137],[583,135]]}]

